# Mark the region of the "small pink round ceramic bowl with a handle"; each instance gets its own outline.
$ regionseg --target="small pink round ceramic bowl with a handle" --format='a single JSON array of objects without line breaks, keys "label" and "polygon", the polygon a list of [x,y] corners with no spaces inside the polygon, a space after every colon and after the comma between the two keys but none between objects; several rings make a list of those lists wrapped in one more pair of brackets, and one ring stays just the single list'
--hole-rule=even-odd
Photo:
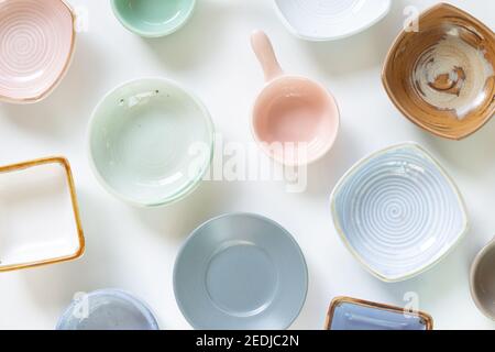
[{"label": "small pink round ceramic bowl with a handle", "polygon": [[326,155],[339,132],[339,108],[321,85],[284,75],[264,32],[251,43],[266,86],[253,108],[253,133],[262,150],[285,165],[304,165]]}]

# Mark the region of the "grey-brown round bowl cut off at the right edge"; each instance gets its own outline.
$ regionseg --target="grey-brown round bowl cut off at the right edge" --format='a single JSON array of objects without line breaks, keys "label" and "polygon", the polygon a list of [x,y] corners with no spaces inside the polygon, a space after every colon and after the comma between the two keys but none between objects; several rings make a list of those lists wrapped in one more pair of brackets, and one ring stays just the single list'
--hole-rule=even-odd
[{"label": "grey-brown round bowl cut off at the right edge", "polygon": [[477,308],[495,320],[495,240],[474,260],[471,268],[471,295]]}]

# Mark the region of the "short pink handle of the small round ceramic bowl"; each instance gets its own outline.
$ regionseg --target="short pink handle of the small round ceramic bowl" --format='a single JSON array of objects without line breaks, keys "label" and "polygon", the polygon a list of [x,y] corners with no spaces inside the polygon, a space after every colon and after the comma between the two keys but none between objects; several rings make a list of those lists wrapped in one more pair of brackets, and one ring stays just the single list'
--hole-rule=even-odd
[{"label": "short pink handle of the small round ceramic bowl", "polygon": [[266,81],[271,81],[284,74],[280,65],[278,64],[277,57],[275,56],[272,43],[265,32],[253,32],[251,35],[251,45],[263,68]]}]

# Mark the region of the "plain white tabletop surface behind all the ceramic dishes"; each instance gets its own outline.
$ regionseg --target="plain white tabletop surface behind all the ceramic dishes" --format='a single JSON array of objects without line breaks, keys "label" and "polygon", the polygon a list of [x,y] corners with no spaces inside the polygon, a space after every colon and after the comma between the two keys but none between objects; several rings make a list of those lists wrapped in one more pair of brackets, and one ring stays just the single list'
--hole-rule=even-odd
[{"label": "plain white tabletop surface behind all the ceramic dishes", "polygon": [[[495,2],[451,1],[495,29]],[[0,275],[0,328],[52,329],[76,292],[118,287],[146,300],[163,329],[187,329],[174,299],[172,272],[180,243],[211,217],[257,212],[289,230],[309,266],[306,306],[293,329],[321,329],[330,300],[339,295],[404,305],[416,292],[420,308],[438,329],[494,329],[475,308],[469,268],[495,234],[495,123],[462,142],[422,132],[393,107],[381,84],[381,66],[403,26],[407,4],[393,1],[391,14],[365,33],[333,43],[294,37],[271,0],[199,0],[190,22],[172,36],[143,40],[125,31],[108,1],[70,0],[88,10],[73,66],[56,91],[34,106],[0,105],[0,163],[62,154],[74,168],[86,255],[76,262]],[[250,110],[263,87],[251,52],[254,29],[272,37],[288,73],[323,82],[342,111],[334,148],[309,168],[304,194],[280,182],[205,183],[168,208],[136,209],[109,196],[91,174],[86,128],[98,100],[114,86],[142,76],[172,78],[194,90],[209,108],[227,141],[251,143]],[[330,191],[366,154],[403,141],[417,141],[443,163],[463,193],[472,228],[462,244],[430,272],[400,284],[367,274],[345,250],[330,217]],[[19,219],[29,221],[29,217]],[[1,234],[0,234],[1,237]]]}]

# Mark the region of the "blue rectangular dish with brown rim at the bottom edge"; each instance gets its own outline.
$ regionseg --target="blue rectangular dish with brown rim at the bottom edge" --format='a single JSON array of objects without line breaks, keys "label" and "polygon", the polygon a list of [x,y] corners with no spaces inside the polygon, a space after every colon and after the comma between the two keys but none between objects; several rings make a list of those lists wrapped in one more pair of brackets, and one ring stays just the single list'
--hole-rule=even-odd
[{"label": "blue rectangular dish with brown rim at the bottom edge", "polygon": [[432,330],[433,319],[425,312],[338,297],[327,316],[327,330]]}]

